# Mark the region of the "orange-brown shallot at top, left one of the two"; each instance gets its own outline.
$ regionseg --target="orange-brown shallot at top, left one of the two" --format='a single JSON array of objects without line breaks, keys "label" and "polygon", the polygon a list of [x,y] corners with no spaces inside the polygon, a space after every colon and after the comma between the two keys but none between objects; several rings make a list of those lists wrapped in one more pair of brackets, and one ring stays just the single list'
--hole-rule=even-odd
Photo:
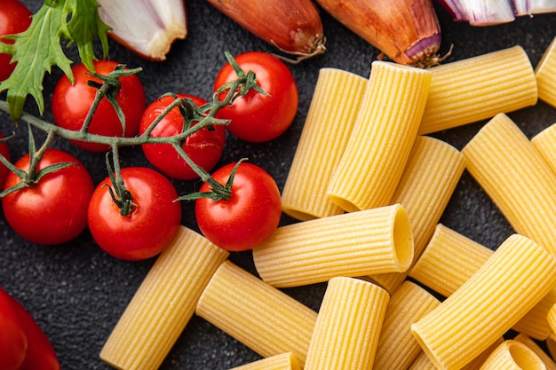
[{"label": "orange-brown shallot at top, left one of the two", "polygon": [[306,59],[326,51],[321,16],[311,0],[207,1],[285,53]]}]

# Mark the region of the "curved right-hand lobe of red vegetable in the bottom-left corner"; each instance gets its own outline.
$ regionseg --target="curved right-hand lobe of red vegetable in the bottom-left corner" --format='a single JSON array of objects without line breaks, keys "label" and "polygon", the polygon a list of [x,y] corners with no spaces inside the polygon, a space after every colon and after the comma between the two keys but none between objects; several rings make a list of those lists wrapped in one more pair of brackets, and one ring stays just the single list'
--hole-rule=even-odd
[{"label": "curved right-hand lobe of red vegetable in the bottom-left corner", "polygon": [[[20,367],[16,367],[17,370],[60,370],[56,351],[43,329],[21,303],[11,295],[5,295],[6,301],[12,305],[28,339],[25,358]],[[2,368],[4,369],[4,367]]]}]

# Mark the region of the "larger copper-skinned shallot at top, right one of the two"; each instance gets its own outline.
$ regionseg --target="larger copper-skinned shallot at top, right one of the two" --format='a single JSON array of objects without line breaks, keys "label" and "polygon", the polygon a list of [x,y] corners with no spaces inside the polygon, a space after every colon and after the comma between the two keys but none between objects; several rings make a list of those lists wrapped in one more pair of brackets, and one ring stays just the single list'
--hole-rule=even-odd
[{"label": "larger copper-skinned shallot at top, right one of the two", "polygon": [[441,27],[432,0],[316,0],[326,12],[396,63],[438,61]]}]

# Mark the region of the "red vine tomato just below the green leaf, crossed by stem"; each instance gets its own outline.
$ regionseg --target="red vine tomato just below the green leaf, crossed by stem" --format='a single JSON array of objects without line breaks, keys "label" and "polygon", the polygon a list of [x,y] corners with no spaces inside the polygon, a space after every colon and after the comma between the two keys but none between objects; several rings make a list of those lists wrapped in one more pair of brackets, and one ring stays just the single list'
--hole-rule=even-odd
[{"label": "red vine tomato just below the green leaf, crossed by stem", "polygon": [[[108,75],[118,65],[114,60],[96,60],[94,66],[97,75]],[[89,70],[79,63],[72,68],[75,75],[75,84],[63,75],[52,94],[52,115],[54,122],[64,129],[81,130],[85,117],[89,113],[97,89],[87,84],[92,80],[100,83],[98,78],[87,75]],[[116,95],[118,105],[125,116],[125,133],[122,122],[115,113],[114,106],[103,98],[97,107],[89,126],[89,132],[109,137],[134,137],[139,132],[141,115],[147,106],[145,90],[137,75],[120,78],[122,84]],[[74,140],[75,146],[92,152],[104,152],[110,147],[102,144],[87,143]]]}]

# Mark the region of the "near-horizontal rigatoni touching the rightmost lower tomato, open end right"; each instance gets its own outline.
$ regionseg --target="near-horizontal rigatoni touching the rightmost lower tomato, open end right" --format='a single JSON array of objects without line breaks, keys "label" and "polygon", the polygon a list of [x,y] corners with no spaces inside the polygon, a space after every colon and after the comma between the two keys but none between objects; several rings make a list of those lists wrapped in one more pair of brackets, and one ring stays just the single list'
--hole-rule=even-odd
[{"label": "near-horizontal rigatoni touching the rightmost lower tomato, open end right", "polygon": [[279,227],[252,254],[266,283],[297,287],[403,272],[413,259],[413,239],[405,209],[394,204]]}]

